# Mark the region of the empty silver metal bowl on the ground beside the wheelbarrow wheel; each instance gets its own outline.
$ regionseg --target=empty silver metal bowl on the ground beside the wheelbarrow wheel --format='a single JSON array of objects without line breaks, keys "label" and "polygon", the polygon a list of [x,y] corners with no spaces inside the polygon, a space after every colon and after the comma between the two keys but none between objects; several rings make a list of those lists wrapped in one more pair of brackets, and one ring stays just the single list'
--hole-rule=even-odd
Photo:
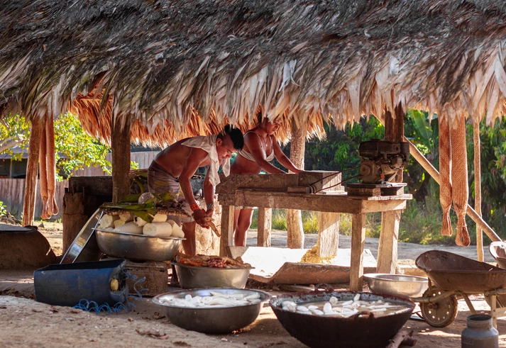
[{"label": "empty silver metal bowl on the ground beside the wheelbarrow wheel", "polygon": [[402,274],[364,274],[370,291],[388,293],[402,297],[420,297],[429,287],[429,280],[423,276],[403,276]]}]

